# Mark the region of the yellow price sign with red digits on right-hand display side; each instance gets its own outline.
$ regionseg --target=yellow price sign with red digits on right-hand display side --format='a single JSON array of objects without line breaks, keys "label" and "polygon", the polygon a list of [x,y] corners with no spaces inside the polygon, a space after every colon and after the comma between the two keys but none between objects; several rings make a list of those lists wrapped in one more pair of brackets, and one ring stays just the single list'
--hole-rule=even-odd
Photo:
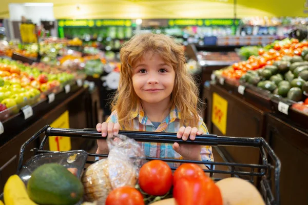
[{"label": "yellow price sign with red digits on right-hand display side", "polygon": [[224,135],[227,129],[227,111],[228,101],[213,93],[212,122]]}]

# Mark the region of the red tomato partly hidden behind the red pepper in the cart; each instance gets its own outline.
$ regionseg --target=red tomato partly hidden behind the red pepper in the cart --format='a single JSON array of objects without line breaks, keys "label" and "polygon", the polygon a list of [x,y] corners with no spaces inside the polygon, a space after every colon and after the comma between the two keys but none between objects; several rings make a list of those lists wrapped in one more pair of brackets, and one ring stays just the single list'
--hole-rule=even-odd
[{"label": "red tomato partly hidden behind the red pepper in the cart", "polygon": [[176,181],[180,178],[189,178],[189,179],[196,179],[196,178],[204,178],[205,179],[205,173],[201,169],[200,166],[196,165],[195,163],[184,163],[178,169],[175,171],[174,174],[174,185],[176,184]]}]

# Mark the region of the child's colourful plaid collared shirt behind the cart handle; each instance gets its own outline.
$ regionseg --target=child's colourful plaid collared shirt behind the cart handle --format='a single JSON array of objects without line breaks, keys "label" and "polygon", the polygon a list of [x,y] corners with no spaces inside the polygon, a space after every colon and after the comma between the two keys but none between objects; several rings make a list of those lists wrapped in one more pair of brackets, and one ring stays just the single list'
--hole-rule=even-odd
[{"label": "child's colourful plaid collared shirt behind the cart handle", "polygon": [[[142,106],[138,106],[136,111],[130,113],[132,118],[132,125],[134,131],[148,131],[148,132],[178,132],[180,129],[181,113],[174,106],[172,107],[170,114],[161,122],[160,126],[156,129],[148,117],[144,114]],[[106,122],[118,122],[118,115],[116,111],[113,111]],[[203,119],[199,116],[198,130],[203,131],[203,134],[208,134],[207,128],[203,122]],[[167,159],[182,159],[183,157],[174,151],[172,144],[160,144],[153,142],[140,142],[140,145],[144,149],[144,154],[147,157],[158,157]],[[201,149],[202,161],[214,161],[213,154],[210,146],[203,146]],[[169,166],[178,167],[180,163],[168,163]],[[210,168],[209,165],[206,165]]]}]

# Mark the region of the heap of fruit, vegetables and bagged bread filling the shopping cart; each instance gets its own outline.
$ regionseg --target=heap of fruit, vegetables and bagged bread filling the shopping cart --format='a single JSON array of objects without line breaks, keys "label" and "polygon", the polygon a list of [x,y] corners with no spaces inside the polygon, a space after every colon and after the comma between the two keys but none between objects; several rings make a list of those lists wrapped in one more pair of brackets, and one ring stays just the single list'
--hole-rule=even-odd
[{"label": "heap of fruit, vegetables and bagged bread filling the shopping cart", "polygon": [[11,176],[4,187],[5,204],[265,204],[246,180],[225,178],[215,183],[193,163],[182,164],[172,176],[162,160],[142,165],[144,151],[133,139],[110,137],[107,145],[108,157],[92,163],[81,175],[78,169],[83,168],[74,165],[66,169],[57,163],[44,163],[27,172],[29,177],[23,178],[27,188],[17,175]]}]

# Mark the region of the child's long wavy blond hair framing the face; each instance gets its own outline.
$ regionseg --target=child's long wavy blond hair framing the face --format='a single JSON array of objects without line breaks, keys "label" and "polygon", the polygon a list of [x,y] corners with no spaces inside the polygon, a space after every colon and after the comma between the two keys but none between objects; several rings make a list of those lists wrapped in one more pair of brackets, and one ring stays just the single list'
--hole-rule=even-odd
[{"label": "child's long wavy blond hair framing the face", "polygon": [[194,78],[186,69],[184,47],[167,35],[153,33],[135,35],[121,47],[120,85],[111,103],[112,111],[117,111],[121,127],[132,129],[130,113],[136,110],[139,103],[139,97],[133,89],[132,71],[147,52],[158,54],[175,70],[169,106],[175,105],[180,111],[181,126],[198,127],[199,91]]}]

